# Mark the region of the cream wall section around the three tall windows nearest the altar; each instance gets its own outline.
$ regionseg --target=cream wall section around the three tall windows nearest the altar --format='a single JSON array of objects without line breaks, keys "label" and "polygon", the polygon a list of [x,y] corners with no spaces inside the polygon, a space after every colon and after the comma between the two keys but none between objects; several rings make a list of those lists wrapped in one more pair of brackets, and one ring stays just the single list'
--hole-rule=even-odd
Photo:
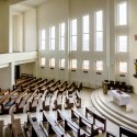
[{"label": "cream wall section around the three tall windows nearest the altar", "polygon": [[[105,22],[105,10],[106,0],[70,0],[69,13],[70,20],[78,20],[78,50],[71,52],[69,58],[78,59],[78,70],[75,72],[70,71],[70,79],[75,81],[82,81],[83,85],[99,87],[103,79],[107,79],[107,72],[103,71],[102,75],[96,75],[94,62],[98,59],[103,60],[104,70],[106,69],[106,42],[105,42],[105,31],[104,31],[104,52],[94,53],[94,13],[95,11],[103,10],[104,12],[104,24]],[[82,52],[82,16],[90,15],[90,52]],[[105,25],[104,25],[105,27]],[[88,73],[82,71],[82,60],[90,60],[90,70]]]}]

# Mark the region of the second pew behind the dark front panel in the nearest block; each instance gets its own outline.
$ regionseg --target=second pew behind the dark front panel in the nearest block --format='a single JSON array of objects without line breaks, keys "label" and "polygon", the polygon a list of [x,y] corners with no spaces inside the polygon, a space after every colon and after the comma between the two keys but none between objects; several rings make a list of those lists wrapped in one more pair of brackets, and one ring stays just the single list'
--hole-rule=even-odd
[{"label": "second pew behind the dark front panel in the nearest block", "polygon": [[65,130],[72,129],[77,134],[77,137],[85,137],[85,133],[68,117],[67,113],[57,110],[57,121],[59,119],[65,122]]}]

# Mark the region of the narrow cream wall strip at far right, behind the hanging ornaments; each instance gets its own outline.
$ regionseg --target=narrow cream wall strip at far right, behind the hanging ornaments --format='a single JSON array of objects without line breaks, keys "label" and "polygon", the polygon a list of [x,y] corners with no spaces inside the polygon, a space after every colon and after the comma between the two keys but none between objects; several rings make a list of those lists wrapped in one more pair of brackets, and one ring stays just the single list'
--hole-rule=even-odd
[{"label": "narrow cream wall strip at far right, behind the hanging ornaments", "polygon": [[135,59],[137,59],[137,41],[135,41],[134,35],[137,35],[137,1],[129,0],[129,81],[134,85],[134,91],[137,93],[137,78],[135,75]]}]

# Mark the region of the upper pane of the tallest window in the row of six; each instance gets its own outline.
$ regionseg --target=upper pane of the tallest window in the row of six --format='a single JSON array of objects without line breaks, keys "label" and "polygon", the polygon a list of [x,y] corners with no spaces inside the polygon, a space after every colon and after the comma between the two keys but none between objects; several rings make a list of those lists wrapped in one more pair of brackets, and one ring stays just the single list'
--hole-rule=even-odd
[{"label": "upper pane of the tallest window in the row of six", "polygon": [[103,31],[103,11],[96,12],[96,31]]}]

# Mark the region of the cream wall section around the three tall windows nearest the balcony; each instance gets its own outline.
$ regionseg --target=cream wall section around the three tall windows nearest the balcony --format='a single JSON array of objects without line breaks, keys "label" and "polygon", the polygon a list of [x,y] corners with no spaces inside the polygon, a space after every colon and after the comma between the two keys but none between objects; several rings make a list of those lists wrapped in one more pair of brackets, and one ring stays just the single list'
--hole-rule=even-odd
[{"label": "cream wall section around the three tall windows nearest the balcony", "polygon": [[[50,0],[47,1],[45,4],[41,5],[37,9],[37,16],[38,16],[38,33],[39,31],[45,28],[46,31],[48,31],[49,26],[55,25],[56,26],[56,35],[58,36],[59,34],[59,30],[58,30],[58,25],[61,22],[66,22],[66,28],[68,27],[67,23],[68,23],[68,0]],[[67,33],[66,33],[66,37],[67,37]],[[47,35],[47,39],[49,38],[49,35]],[[46,46],[46,50],[44,53],[41,53],[39,56],[44,56],[46,57],[46,66],[48,66],[49,61],[48,59],[50,57],[55,57],[56,58],[56,68],[53,70],[48,67],[45,68],[39,68],[39,66],[37,67],[37,77],[43,77],[43,78],[54,78],[54,79],[61,79],[61,80],[66,80],[68,79],[68,67],[66,65],[66,70],[60,70],[59,69],[59,58],[60,57],[65,57],[66,59],[68,58],[68,50],[67,50],[67,42],[66,42],[66,52],[57,52],[59,48],[59,41],[56,39],[56,52],[49,52],[48,48],[48,42],[47,42],[47,46]],[[39,61],[39,60],[37,60]]]}]

